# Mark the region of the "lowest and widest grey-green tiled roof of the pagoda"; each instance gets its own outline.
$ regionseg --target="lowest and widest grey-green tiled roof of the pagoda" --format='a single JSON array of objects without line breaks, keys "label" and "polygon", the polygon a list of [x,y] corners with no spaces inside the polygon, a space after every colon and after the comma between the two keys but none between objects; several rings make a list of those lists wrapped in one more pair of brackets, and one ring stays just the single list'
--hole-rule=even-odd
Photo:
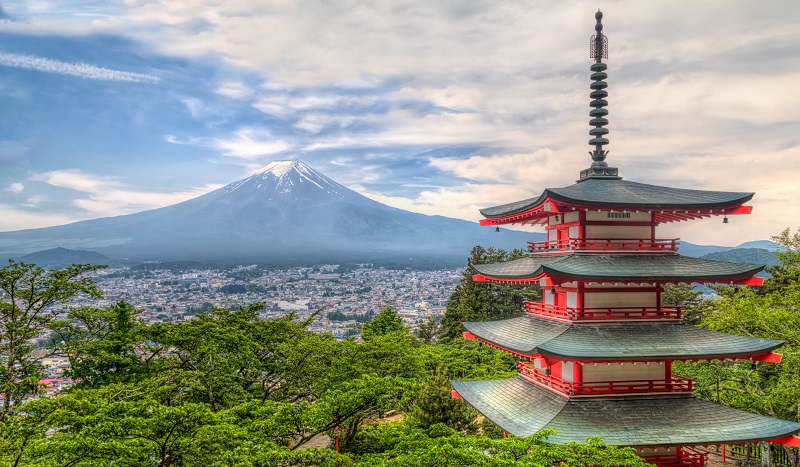
[{"label": "lowest and widest grey-green tiled roof of the pagoda", "polygon": [[781,438],[800,424],[744,412],[694,397],[565,399],[522,378],[451,381],[458,394],[516,436],[552,428],[546,441],[584,443],[599,436],[612,446],[694,446]]}]

